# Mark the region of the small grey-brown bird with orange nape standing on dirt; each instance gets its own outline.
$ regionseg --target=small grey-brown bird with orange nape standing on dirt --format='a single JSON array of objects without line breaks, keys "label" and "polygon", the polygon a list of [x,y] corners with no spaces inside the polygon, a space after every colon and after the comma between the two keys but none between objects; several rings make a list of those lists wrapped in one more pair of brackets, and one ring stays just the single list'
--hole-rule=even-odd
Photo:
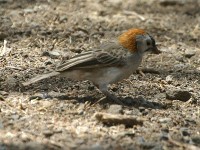
[{"label": "small grey-brown bird with orange nape standing on dirt", "polygon": [[28,86],[40,80],[59,76],[72,80],[91,81],[109,100],[123,104],[108,91],[108,85],[128,78],[142,62],[145,53],[159,54],[155,39],[144,29],[131,28],[115,40],[101,43],[60,64],[55,71],[38,75],[27,82]]}]

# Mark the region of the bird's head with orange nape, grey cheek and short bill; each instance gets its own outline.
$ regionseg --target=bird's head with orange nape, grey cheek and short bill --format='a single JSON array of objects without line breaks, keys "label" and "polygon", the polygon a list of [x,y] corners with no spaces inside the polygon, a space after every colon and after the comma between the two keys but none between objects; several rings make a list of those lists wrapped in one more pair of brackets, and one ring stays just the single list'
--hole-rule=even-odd
[{"label": "bird's head with orange nape, grey cheek and short bill", "polygon": [[142,29],[130,29],[118,38],[119,43],[131,53],[134,52],[152,52],[159,54],[155,40],[152,36]]}]

